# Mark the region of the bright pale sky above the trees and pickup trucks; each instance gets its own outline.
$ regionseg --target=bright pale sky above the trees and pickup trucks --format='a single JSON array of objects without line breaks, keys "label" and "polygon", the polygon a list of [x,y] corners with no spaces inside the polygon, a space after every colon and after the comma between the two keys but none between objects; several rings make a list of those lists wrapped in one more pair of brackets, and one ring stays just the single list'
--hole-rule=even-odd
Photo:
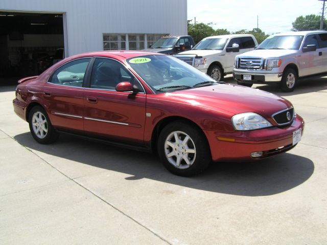
[{"label": "bright pale sky above the trees and pickup trucks", "polygon": [[[266,34],[287,32],[298,16],[321,15],[323,1],[318,0],[187,0],[188,20],[194,24],[213,23],[216,29],[230,32],[257,27]],[[324,16],[327,17],[327,1]]]}]

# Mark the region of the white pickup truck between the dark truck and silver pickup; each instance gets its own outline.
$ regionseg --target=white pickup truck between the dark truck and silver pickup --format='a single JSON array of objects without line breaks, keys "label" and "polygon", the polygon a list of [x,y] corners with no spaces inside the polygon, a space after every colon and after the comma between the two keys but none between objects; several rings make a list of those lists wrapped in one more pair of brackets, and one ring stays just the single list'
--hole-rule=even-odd
[{"label": "white pickup truck between the dark truck and silver pickup", "polygon": [[220,81],[224,75],[232,73],[236,55],[254,50],[256,46],[258,42],[249,34],[211,36],[175,57]]}]

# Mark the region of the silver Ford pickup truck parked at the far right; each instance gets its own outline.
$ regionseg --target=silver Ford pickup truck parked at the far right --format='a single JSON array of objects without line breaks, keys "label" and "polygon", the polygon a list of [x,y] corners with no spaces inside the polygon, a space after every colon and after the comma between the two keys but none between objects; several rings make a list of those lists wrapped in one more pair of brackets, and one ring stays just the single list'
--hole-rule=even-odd
[{"label": "silver Ford pickup truck parked at the far right", "polygon": [[271,35],[255,50],[237,55],[233,78],[238,84],[279,83],[292,92],[299,78],[327,75],[327,31]]}]

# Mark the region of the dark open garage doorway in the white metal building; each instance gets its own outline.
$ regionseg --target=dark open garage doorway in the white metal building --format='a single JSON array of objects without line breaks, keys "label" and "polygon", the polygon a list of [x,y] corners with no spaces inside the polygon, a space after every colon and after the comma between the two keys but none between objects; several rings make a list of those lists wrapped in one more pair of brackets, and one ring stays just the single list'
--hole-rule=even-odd
[{"label": "dark open garage doorway in the white metal building", "polygon": [[0,85],[41,74],[64,57],[63,15],[0,11]]}]

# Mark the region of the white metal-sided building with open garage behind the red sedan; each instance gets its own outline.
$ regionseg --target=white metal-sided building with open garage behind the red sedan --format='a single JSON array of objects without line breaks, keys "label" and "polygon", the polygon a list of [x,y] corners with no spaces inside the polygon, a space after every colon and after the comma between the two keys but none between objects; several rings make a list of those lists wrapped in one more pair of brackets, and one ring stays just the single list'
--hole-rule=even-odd
[{"label": "white metal-sided building with open garage behind the red sedan", "polygon": [[187,0],[1,0],[0,46],[8,50],[0,49],[0,56],[8,56],[12,64],[59,48],[64,48],[65,57],[145,49],[161,35],[187,34],[186,4]]}]

